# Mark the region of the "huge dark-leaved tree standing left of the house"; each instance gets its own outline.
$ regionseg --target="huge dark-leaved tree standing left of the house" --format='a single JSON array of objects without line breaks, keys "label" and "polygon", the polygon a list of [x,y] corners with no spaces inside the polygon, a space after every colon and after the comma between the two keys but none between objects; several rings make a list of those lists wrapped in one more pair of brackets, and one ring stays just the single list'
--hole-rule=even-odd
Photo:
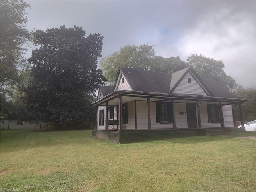
[{"label": "huge dark-leaved tree standing left of the house", "polygon": [[30,121],[53,122],[56,126],[90,124],[94,108],[89,99],[105,82],[97,69],[101,57],[100,34],[85,36],[82,28],[36,30],[39,49],[28,60],[31,81],[24,88],[26,117]]}]

